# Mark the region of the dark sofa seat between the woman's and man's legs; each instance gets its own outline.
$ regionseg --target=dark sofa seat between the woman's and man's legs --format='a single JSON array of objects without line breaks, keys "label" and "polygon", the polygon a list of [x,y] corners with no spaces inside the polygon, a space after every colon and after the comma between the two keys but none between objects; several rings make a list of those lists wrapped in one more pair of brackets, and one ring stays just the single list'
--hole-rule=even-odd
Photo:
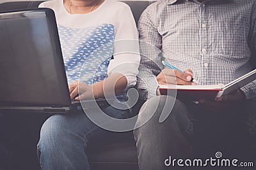
[{"label": "dark sofa seat between the woman's and man's legs", "polygon": [[113,132],[100,141],[89,143],[86,153],[92,169],[138,169],[138,155],[132,132]]}]

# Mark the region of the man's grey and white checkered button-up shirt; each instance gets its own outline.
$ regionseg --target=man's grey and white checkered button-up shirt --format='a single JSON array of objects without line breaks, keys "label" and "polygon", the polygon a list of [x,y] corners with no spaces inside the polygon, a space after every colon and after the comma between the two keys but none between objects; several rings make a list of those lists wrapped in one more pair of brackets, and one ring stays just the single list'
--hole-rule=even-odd
[{"label": "man's grey and white checkered button-up shirt", "polygon": [[[191,69],[202,85],[227,84],[252,71],[255,1],[163,0],[148,6],[138,25],[143,41],[137,83],[141,96],[156,96],[162,60],[181,70]],[[256,81],[241,90],[246,99],[256,97]]]}]

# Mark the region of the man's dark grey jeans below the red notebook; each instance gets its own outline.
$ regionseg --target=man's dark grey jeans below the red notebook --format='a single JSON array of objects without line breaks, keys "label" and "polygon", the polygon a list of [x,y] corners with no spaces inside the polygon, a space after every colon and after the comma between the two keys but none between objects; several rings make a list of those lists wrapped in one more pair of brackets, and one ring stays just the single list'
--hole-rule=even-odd
[{"label": "man's dark grey jeans below the red notebook", "polygon": [[246,127],[246,106],[238,103],[226,110],[218,110],[176,99],[168,118],[159,123],[166,99],[173,101],[174,98],[153,97],[141,107],[138,124],[156,111],[146,124],[134,130],[140,170],[175,169],[164,165],[164,160],[170,156],[177,160],[204,159],[221,152],[223,157],[230,159],[255,159],[246,148],[252,146]]}]

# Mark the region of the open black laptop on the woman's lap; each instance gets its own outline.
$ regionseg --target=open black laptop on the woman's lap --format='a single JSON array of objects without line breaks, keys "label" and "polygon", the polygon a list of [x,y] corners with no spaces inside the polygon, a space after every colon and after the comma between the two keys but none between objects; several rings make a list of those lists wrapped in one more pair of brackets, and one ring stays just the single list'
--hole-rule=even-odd
[{"label": "open black laptop on the woman's lap", "polygon": [[[54,11],[0,13],[0,110],[68,113],[97,107],[72,101]],[[97,99],[101,108],[109,106]]]}]

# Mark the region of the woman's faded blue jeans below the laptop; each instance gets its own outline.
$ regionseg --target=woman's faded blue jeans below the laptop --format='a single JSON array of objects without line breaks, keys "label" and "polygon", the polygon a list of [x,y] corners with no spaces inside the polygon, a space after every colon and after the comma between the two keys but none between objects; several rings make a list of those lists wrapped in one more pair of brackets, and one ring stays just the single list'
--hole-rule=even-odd
[{"label": "woman's faded blue jeans below the laptop", "polygon": [[[102,111],[115,118],[127,118],[131,114],[129,110],[118,110],[112,106]],[[37,146],[41,168],[90,169],[86,147],[90,142],[102,140],[108,133],[111,132],[93,124],[83,111],[52,115],[42,126]]]}]

